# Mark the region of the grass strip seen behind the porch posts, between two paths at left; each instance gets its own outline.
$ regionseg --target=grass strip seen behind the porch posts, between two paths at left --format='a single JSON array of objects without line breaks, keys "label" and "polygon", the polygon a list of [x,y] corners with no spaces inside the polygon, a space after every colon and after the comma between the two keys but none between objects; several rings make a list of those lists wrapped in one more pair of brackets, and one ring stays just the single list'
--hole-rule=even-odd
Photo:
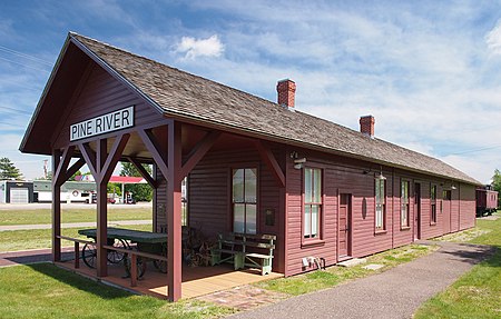
[{"label": "grass strip seen behind the porch posts, between two paths at left", "polygon": [[[130,225],[120,226],[120,228],[151,231],[151,225]],[[81,228],[62,228],[61,235],[71,238],[86,239],[86,237],[81,237],[78,235],[79,229]],[[51,229],[0,231],[0,251],[50,248],[52,246],[51,233]],[[61,245],[62,247],[72,247],[73,242],[62,240]]]}]

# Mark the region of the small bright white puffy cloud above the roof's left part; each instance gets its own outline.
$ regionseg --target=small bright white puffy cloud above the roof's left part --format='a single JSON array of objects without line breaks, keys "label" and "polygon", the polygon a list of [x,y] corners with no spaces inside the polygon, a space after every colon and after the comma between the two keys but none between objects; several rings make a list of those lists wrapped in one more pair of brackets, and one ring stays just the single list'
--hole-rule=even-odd
[{"label": "small bright white puffy cloud above the roof's left part", "polygon": [[207,39],[183,37],[177,44],[176,52],[185,53],[186,59],[195,59],[197,57],[220,57],[224,49],[219,37],[214,34]]}]

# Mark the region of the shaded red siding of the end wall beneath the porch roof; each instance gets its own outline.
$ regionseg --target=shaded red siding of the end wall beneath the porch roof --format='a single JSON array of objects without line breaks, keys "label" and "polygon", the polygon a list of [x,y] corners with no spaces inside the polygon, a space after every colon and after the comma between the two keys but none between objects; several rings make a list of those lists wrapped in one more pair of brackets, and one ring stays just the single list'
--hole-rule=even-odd
[{"label": "shaded red siding of the end wall beneath the porch roof", "polygon": [[[261,161],[256,149],[210,150],[189,173],[188,185],[188,226],[200,230],[208,239],[215,240],[217,233],[233,230],[232,216],[232,168],[257,167],[258,199],[257,199],[257,232],[277,236],[275,271],[284,272],[283,232],[279,232],[283,217],[279,189],[269,169]],[[283,151],[274,150],[275,158],[281,163]],[[282,160],[283,161],[283,160]],[[165,187],[157,191],[159,205],[165,202]],[[281,211],[282,207],[282,211]],[[266,226],[265,211],[275,212],[274,226]],[[164,217],[157,216],[158,221]],[[158,227],[157,227],[158,228]]]}]

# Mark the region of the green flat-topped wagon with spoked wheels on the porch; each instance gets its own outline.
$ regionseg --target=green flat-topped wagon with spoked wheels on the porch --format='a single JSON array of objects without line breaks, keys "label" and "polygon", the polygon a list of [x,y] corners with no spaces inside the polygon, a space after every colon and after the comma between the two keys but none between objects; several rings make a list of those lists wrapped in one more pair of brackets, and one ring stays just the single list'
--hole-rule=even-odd
[{"label": "green flat-topped wagon with spoked wheels on the porch", "polygon": [[[80,229],[79,235],[87,236],[87,238],[94,239],[96,242],[97,229]],[[122,249],[136,249],[141,252],[155,253],[160,256],[167,256],[167,233],[150,232],[141,230],[131,230],[122,228],[109,227],[107,230],[107,245]],[[96,245],[86,243],[82,248],[82,260],[90,267],[95,268],[96,265]],[[107,259],[111,263],[119,263],[124,261],[127,275],[130,276],[130,260],[127,258],[127,253],[121,251],[109,250]],[[147,258],[138,258],[138,277],[143,277],[146,272]],[[161,272],[167,272],[167,262],[164,260],[153,260],[154,266]]]}]

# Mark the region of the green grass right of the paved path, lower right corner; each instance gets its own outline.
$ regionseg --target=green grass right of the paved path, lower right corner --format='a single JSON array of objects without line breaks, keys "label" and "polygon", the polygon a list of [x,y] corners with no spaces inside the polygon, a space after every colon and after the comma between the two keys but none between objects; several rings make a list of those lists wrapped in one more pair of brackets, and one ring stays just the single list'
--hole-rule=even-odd
[{"label": "green grass right of the paved path, lower right corner", "polygon": [[494,246],[494,256],[428,300],[415,318],[501,318],[501,218],[480,219],[475,229],[481,235],[468,242]]}]

